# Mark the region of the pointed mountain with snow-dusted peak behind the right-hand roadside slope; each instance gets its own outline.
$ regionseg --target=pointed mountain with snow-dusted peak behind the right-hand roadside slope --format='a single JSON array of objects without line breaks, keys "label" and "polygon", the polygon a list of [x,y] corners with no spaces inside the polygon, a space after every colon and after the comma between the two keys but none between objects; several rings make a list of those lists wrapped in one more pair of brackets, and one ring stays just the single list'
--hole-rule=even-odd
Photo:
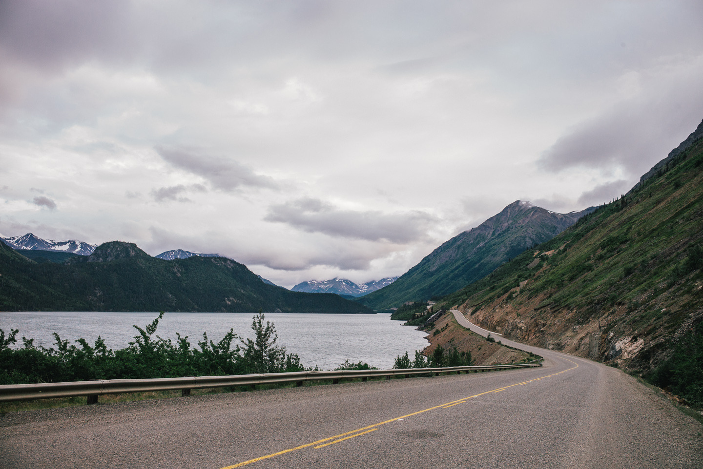
[{"label": "pointed mountain with snow-dusted peak behind the right-hand roadside slope", "polygon": [[594,208],[555,213],[517,200],[432,251],[395,282],[359,298],[374,310],[446,295],[485,277],[499,265],[576,223]]}]

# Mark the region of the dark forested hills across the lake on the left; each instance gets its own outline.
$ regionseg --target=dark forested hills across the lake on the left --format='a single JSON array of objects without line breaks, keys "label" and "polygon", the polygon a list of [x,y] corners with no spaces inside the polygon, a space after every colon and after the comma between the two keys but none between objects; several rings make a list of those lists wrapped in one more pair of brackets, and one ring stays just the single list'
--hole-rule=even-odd
[{"label": "dark forested hills across the lake on the left", "polygon": [[0,244],[2,310],[370,312],[332,294],[262,282],[228,258],[161,260],[110,242],[64,264],[34,263]]}]

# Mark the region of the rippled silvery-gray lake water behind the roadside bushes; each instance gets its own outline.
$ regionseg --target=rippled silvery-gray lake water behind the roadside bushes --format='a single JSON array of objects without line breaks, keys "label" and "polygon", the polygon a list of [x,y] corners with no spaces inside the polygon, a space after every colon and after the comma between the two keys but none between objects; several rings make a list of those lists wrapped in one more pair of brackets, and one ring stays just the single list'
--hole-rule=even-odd
[{"label": "rippled silvery-gray lake water behind the roadside bushes", "polygon": [[[75,341],[85,338],[93,343],[98,336],[113,350],[127,347],[142,329],[150,324],[155,312],[0,312],[0,329],[19,329],[21,336],[34,338],[34,345],[53,346],[52,333]],[[175,340],[176,332],[188,336],[191,347],[197,347],[202,333],[217,342],[230,329],[240,337],[253,338],[253,314],[231,312],[167,312],[159,323],[156,335]],[[268,313],[278,332],[279,345],[289,353],[297,353],[304,366],[334,369],[349,359],[368,362],[378,368],[390,368],[398,355],[422,350],[429,343],[425,332],[392,321],[389,315],[311,315]]]}]

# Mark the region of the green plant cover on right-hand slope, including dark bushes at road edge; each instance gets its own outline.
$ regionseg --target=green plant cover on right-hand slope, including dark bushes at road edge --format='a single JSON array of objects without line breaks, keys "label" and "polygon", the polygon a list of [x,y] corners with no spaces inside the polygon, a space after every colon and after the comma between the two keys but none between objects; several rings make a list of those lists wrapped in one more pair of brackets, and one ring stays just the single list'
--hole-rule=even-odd
[{"label": "green plant cover on right-hand slope, including dark bushes at road edge", "polygon": [[437,306],[465,304],[476,312],[524,305],[523,314],[535,319],[568,313],[576,326],[602,322],[602,340],[610,333],[647,338],[629,366],[659,370],[645,376],[701,407],[703,397],[695,391],[703,389],[703,359],[690,357],[699,356],[696,347],[703,345],[676,350],[687,341],[682,327],[695,343],[703,335],[701,315],[695,314],[703,310],[702,242],[699,141],[636,189]]}]

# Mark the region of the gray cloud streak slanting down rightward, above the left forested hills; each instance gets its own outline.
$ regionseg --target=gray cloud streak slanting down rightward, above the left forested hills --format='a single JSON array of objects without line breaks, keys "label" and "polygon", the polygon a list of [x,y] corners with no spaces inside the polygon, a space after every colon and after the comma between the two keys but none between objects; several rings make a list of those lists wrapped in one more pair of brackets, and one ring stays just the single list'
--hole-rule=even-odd
[{"label": "gray cloud streak slanting down rightward, above the left forested hills", "polygon": [[278,188],[273,178],[254,173],[233,159],[214,157],[193,148],[156,147],[155,150],[170,164],[205,178],[216,189],[233,191],[241,187]]}]

